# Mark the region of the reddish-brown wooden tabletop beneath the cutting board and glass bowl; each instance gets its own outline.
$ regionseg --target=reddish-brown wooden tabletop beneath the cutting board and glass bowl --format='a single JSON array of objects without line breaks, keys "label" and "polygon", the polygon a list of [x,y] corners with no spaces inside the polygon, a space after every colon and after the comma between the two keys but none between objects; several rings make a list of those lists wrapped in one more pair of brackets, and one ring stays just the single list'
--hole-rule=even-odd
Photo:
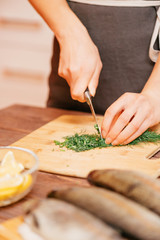
[{"label": "reddish-brown wooden tabletop beneath the cutting board and glass bowl", "polygon": [[[82,113],[24,105],[13,105],[2,109],[0,110],[0,145],[10,145],[63,114],[77,115]],[[45,198],[47,193],[53,189],[75,185],[88,186],[88,183],[85,179],[39,172],[32,191],[23,200],[11,206],[0,208],[0,222],[21,215],[26,200]]]}]

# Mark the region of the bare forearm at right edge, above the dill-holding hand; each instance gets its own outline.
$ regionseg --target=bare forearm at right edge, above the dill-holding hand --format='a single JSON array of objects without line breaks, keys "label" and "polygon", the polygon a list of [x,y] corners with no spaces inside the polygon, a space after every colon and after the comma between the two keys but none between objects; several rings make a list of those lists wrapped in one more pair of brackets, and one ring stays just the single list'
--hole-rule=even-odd
[{"label": "bare forearm at right edge, above the dill-holding hand", "polygon": [[148,94],[153,98],[160,100],[160,54],[158,60],[153,68],[153,71],[145,84],[142,94]]}]

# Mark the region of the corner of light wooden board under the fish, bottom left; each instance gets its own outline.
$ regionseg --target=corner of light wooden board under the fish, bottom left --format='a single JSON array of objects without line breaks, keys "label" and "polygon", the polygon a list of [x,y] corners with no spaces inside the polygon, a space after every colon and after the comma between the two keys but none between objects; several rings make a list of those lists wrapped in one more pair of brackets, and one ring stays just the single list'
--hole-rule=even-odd
[{"label": "corner of light wooden board under the fish, bottom left", "polygon": [[0,240],[22,240],[18,227],[23,223],[22,217],[10,219],[0,224]]}]

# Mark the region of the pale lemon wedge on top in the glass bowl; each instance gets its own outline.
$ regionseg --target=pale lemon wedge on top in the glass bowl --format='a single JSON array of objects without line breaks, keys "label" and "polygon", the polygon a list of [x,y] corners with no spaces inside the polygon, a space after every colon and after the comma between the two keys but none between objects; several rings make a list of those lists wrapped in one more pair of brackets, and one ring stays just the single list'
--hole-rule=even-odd
[{"label": "pale lemon wedge on top in the glass bowl", "polygon": [[15,175],[20,173],[23,169],[24,166],[15,160],[13,152],[8,151],[1,162],[0,176],[3,175],[1,172]]}]

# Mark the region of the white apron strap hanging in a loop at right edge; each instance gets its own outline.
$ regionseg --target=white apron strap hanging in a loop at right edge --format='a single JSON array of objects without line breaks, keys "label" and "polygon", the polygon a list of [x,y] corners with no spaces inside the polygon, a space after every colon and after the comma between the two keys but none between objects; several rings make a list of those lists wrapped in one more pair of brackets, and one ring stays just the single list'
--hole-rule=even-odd
[{"label": "white apron strap hanging in a loop at right edge", "polygon": [[154,49],[154,44],[159,37],[159,47],[160,47],[160,7],[158,8],[157,11],[157,20],[155,23],[155,27],[153,30],[152,38],[151,38],[151,43],[149,47],[149,57],[153,62],[156,62],[158,59],[158,55],[160,50]]}]

